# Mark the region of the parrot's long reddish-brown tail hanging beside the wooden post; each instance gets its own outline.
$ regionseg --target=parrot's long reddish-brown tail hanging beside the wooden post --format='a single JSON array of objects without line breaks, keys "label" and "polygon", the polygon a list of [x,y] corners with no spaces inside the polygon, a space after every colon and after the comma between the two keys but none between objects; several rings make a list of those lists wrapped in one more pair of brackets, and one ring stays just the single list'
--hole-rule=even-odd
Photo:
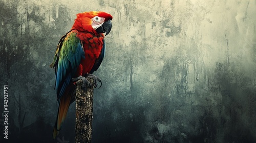
[{"label": "parrot's long reddish-brown tail hanging beside the wooden post", "polygon": [[53,129],[53,139],[55,139],[56,136],[58,135],[58,132],[61,129],[62,123],[64,122],[65,117],[67,115],[69,105],[74,101],[72,100],[74,96],[73,94],[74,90],[75,90],[74,85],[70,84],[65,90],[63,96],[60,98],[57,119]]}]

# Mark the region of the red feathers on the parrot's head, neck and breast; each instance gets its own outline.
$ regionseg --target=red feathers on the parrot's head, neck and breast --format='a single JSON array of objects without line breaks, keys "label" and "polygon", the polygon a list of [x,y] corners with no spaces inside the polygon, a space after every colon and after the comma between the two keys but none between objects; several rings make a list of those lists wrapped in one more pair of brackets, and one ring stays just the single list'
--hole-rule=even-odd
[{"label": "red feathers on the parrot's head, neck and breast", "polygon": [[102,49],[104,35],[102,33],[97,33],[92,28],[92,20],[94,16],[104,17],[105,21],[112,20],[112,15],[105,12],[84,12],[77,14],[75,23],[72,29],[77,29],[81,31],[77,34],[77,37],[83,43],[85,59],[82,59],[81,66],[77,69],[76,76],[82,76],[84,74],[90,73],[95,60],[99,57]]}]

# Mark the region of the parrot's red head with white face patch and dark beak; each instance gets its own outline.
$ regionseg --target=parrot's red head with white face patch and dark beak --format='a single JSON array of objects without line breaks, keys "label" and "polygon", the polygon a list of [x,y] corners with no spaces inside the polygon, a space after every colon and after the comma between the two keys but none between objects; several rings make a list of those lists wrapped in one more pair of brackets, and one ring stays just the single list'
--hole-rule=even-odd
[{"label": "parrot's red head with white face patch and dark beak", "polygon": [[88,31],[94,34],[105,33],[108,35],[112,28],[112,16],[102,11],[78,13],[72,29]]}]

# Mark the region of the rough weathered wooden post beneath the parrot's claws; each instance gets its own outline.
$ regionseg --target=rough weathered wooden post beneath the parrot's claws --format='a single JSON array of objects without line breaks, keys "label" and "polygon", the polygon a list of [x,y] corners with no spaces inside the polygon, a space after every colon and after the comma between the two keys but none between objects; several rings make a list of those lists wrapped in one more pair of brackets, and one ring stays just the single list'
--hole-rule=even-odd
[{"label": "rough weathered wooden post beneath the parrot's claws", "polygon": [[76,82],[76,143],[92,142],[92,121],[93,121],[93,78],[87,78],[92,87],[87,91],[81,89],[82,80]]}]

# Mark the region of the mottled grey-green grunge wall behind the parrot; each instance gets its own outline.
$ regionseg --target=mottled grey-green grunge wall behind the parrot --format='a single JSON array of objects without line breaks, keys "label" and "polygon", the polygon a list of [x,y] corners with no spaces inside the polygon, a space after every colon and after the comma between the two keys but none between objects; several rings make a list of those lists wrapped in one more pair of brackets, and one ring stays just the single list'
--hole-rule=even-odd
[{"label": "mottled grey-green grunge wall behind the parrot", "polygon": [[255,142],[255,7],[252,0],[2,0],[9,142],[74,142],[74,104],[52,139],[57,105],[49,65],[84,11],[113,15],[94,73],[103,85],[94,92],[93,142]]}]

